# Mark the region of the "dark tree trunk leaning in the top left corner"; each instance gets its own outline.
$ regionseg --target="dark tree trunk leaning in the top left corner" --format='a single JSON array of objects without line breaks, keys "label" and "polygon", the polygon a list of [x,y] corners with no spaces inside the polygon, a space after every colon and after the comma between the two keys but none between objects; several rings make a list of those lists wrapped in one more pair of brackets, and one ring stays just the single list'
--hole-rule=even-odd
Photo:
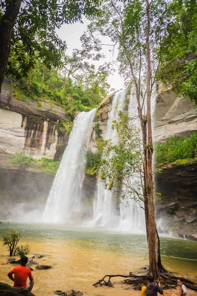
[{"label": "dark tree trunk leaning in the top left corner", "polygon": [[7,1],[5,13],[0,21],[0,91],[10,54],[12,30],[21,6],[21,0]]}]

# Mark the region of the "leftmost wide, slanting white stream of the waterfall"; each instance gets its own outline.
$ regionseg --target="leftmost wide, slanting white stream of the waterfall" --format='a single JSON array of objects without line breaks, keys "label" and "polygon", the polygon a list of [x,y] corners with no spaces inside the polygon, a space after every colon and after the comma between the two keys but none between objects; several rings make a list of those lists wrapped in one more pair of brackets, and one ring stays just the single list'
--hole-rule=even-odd
[{"label": "leftmost wide, slanting white stream of the waterfall", "polygon": [[83,210],[81,187],[95,111],[81,112],[74,120],[68,145],[47,199],[43,222],[69,222],[72,212]]}]

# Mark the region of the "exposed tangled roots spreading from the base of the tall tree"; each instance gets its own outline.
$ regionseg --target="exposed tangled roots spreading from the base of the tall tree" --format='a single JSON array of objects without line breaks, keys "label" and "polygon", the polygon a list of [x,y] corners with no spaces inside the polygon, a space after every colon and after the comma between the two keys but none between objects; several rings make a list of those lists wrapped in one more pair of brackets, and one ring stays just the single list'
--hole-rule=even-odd
[{"label": "exposed tangled roots spreading from the base of the tall tree", "polygon": [[[111,278],[114,277],[123,277],[126,278],[122,283],[131,285],[131,287],[127,289],[134,289],[134,290],[141,290],[141,286],[143,284],[143,281],[145,279],[148,279],[149,273],[146,274],[133,274],[130,272],[129,275],[124,275],[124,274],[110,274],[110,275],[105,275],[102,279],[97,281],[93,286],[97,287],[97,285],[100,286],[108,286],[108,287],[113,287],[113,284],[111,282]],[[184,285],[194,291],[197,291],[197,283],[194,283],[188,279],[182,278],[182,277],[177,277],[171,273],[161,273],[158,280],[161,283],[161,286],[163,289],[176,289],[177,287],[177,279],[181,279],[184,283]]]}]

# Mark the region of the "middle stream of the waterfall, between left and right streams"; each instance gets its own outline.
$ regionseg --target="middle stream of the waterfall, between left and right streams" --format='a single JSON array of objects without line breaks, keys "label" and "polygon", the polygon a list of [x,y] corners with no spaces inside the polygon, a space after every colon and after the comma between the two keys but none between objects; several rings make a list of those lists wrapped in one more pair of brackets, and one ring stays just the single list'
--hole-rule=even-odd
[{"label": "middle stream of the waterfall, between left and right streams", "polygon": [[[107,132],[104,140],[111,139],[114,144],[118,142],[116,132],[112,130],[113,120],[118,119],[115,107],[118,104],[118,110],[124,110],[126,99],[126,90],[120,90],[115,93],[111,110],[108,113]],[[119,217],[119,210],[113,198],[111,191],[104,189],[100,180],[97,182],[97,196],[93,203],[94,218],[88,223],[88,226],[102,226],[108,228],[116,228],[118,226],[117,217]]]}]

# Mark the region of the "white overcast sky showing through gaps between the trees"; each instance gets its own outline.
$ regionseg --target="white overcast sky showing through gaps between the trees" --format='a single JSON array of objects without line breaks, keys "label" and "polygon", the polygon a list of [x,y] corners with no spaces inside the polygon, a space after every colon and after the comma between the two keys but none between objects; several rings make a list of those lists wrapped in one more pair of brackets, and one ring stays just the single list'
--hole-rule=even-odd
[{"label": "white overcast sky showing through gaps between the trees", "polygon": [[[60,30],[57,30],[58,36],[62,39],[65,40],[67,43],[67,54],[71,55],[72,54],[72,49],[73,48],[79,48],[81,49],[81,42],[80,42],[80,37],[83,35],[84,31],[87,30],[87,25],[89,21],[85,18],[83,18],[83,24],[81,23],[75,23],[72,25],[63,25]],[[110,39],[106,37],[106,39],[102,38],[103,43],[110,44]],[[95,64],[96,66],[99,66],[103,64],[105,61],[106,62],[113,62],[115,61],[116,58],[116,52],[114,52],[114,56],[112,56],[112,53],[109,52],[109,49],[111,49],[110,46],[104,46],[103,48],[103,53],[106,56],[106,59],[101,59],[99,62],[95,62],[90,60],[90,63]],[[117,69],[117,67],[116,67]],[[109,76],[108,78],[108,83],[110,84],[111,88],[114,88],[115,90],[119,90],[124,87],[124,79],[118,74],[118,69],[116,72],[112,75]]]}]

